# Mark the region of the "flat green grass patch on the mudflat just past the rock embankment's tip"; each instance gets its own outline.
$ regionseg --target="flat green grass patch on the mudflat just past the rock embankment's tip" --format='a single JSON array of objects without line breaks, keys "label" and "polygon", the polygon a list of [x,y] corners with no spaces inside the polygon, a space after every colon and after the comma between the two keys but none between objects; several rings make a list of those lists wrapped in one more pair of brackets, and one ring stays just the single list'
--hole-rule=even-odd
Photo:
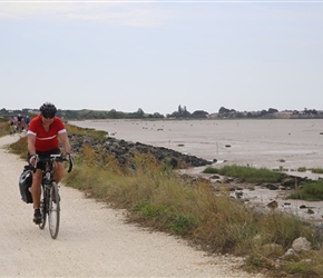
[{"label": "flat green grass patch on the mudflat just past the rock embankment's tip", "polygon": [[207,167],[205,173],[218,173],[222,176],[238,178],[241,182],[278,182],[283,175],[265,168],[256,169],[249,166],[224,166],[223,168]]}]

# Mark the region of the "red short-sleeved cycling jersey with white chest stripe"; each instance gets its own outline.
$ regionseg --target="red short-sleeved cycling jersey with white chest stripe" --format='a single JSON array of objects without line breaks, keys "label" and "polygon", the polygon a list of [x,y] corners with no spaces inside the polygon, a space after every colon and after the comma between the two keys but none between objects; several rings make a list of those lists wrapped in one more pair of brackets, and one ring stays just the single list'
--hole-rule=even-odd
[{"label": "red short-sleeved cycling jersey with white chest stripe", "polygon": [[41,117],[35,117],[29,125],[28,135],[36,136],[36,151],[49,151],[59,148],[58,135],[65,133],[65,125],[61,119],[55,117],[48,132],[42,126]]}]

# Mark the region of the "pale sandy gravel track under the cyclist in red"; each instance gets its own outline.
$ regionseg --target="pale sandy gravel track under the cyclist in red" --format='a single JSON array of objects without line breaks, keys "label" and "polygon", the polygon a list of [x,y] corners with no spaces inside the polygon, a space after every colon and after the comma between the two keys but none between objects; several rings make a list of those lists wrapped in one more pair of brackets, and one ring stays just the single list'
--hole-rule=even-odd
[{"label": "pale sandy gravel track under the cyclist in red", "polygon": [[32,205],[20,199],[25,161],[8,153],[0,138],[0,277],[262,277],[234,270],[237,259],[208,257],[180,239],[125,224],[121,210],[61,186],[61,227],[32,222]]}]

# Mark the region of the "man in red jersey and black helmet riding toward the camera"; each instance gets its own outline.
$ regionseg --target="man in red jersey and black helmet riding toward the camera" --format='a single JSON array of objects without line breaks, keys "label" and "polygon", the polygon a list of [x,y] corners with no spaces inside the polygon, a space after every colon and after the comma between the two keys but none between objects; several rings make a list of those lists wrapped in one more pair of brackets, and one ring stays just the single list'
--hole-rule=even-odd
[{"label": "man in red jersey and black helmet riding toward the camera", "polygon": [[[60,153],[59,141],[62,143],[67,159],[72,159],[70,151],[70,142],[62,120],[56,117],[57,109],[51,102],[45,102],[40,107],[40,115],[35,117],[29,125],[28,136],[28,161],[31,166],[36,165],[37,155],[40,158],[49,157],[50,155]],[[56,162],[53,179],[58,183],[63,176],[62,162]],[[33,200],[33,222],[41,222],[40,215],[40,196],[41,196],[41,179],[45,163],[37,162],[37,169],[32,173],[31,195]]]}]

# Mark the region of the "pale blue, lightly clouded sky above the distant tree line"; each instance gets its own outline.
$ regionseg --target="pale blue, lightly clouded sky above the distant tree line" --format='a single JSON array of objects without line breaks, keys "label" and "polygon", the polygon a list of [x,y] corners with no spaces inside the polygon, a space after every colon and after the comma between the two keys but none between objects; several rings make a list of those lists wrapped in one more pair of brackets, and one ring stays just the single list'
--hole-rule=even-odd
[{"label": "pale blue, lightly clouded sky above the distant tree line", "polygon": [[0,0],[0,109],[323,110],[323,1]]}]

